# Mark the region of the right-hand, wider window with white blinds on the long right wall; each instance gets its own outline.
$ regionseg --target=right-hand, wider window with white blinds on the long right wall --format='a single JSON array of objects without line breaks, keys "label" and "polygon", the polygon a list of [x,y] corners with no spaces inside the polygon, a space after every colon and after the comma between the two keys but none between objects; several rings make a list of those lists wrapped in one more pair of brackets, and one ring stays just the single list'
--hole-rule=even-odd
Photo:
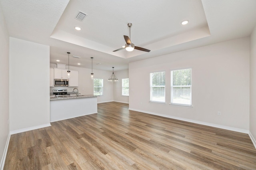
[{"label": "right-hand, wider window with white blinds on the long right wall", "polygon": [[192,106],[192,69],[171,71],[171,104]]}]

